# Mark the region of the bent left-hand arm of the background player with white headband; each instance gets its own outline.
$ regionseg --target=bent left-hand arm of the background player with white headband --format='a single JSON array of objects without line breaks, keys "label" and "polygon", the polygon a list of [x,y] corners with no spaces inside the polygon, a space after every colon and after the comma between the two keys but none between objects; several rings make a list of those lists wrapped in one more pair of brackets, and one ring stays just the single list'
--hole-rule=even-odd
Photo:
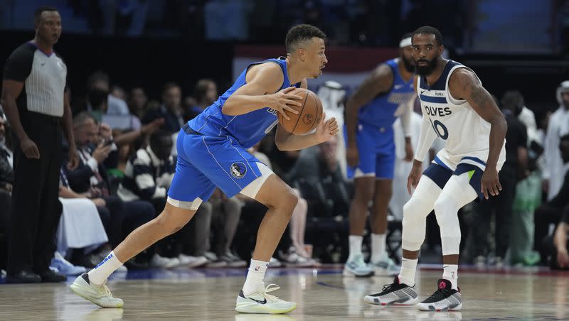
[{"label": "bent left-hand arm of the background player with white headband", "polygon": [[382,92],[387,92],[393,85],[393,72],[388,65],[379,65],[346,102],[346,134],[348,136],[348,151],[346,156],[350,166],[358,165],[358,149],[356,146],[356,127],[358,126],[358,111]]}]

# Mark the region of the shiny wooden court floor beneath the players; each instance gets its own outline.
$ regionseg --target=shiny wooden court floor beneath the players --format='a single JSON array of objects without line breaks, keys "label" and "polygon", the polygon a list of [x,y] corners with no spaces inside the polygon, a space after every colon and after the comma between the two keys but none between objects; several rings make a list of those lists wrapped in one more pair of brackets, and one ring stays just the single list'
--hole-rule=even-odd
[{"label": "shiny wooden court floor beneath the players", "polygon": [[[267,284],[298,303],[288,315],[243,315],[233,310],[244,270],[124,273],[109,282],[122,309],[102,309],[73,295],[68,284],[0,284],[0,320],[569,320],[569,273],[460,273],[461,312],[368,305],[363,295],[389,278],[342,278],[336,269],[272,269]],[[435,290],[439,271],[418,274],[421,298]],[[151,277],[151,278],[148,278]],[[69,282],[73,279],[70,278]]]}]

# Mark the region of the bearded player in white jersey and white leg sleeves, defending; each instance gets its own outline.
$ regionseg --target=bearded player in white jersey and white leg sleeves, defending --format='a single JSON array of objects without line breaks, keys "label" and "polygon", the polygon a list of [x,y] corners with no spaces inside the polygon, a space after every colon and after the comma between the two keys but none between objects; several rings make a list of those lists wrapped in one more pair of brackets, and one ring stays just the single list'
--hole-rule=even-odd
[{"label": "bearded player in white jersey and white leg sleeves, defending", "polygon": [[[425,311],[460,310],[457,212],[477,198],[499,194],[507,125],[477,75],[441,57],[442,36],[437,29],[418,28],[412,48],[422,125],[407,183],[412,197],[403,207],[403,263],[393,283],[364,300],[376,305],[418,305]],[[422,172],[422,160],[437,136],[445,141],[445,148]],[[433,209],[440,226],[444,272],[435,293],[419,303],[415,271],[425,239],[425,219]]]}]

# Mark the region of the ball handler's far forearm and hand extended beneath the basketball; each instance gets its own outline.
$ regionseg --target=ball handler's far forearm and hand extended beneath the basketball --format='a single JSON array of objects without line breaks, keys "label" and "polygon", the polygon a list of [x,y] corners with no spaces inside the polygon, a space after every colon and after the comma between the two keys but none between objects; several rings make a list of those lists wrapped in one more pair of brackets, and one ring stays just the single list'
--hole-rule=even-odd
[{"label": "ball handler's far forearm and hand extended beneath the basketball", "polygon": [[311,134],[293,135],[280,125],[277,126],[277,134],[275,135],[275,145],[280,151],[298,151],[302,148],[318,145],[329,140],[332,136],[338,134],[339,128],[336,119],[325,120],[326,114],[322,115],[322,119],[316,130]]}]

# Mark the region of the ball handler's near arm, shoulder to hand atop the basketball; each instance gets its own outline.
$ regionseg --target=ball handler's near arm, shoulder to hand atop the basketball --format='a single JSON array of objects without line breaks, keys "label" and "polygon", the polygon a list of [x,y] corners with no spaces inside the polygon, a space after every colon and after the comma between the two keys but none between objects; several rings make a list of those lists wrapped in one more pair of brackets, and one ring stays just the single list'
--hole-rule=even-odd
[{"label": "ball handler's near arm, shoulder to hand atop the basketball", "polygon": [[270,107],[289,119],[287,113],[298,114],[288,105],[302,106],[302,97],[288,94],[294,87],[280,90],[284,79],[280,66],[267,62],[250,68],[245,76],[247,83],[235,90],[225,101],[221,111],[226,115],[243,115],[250,111]]}]

